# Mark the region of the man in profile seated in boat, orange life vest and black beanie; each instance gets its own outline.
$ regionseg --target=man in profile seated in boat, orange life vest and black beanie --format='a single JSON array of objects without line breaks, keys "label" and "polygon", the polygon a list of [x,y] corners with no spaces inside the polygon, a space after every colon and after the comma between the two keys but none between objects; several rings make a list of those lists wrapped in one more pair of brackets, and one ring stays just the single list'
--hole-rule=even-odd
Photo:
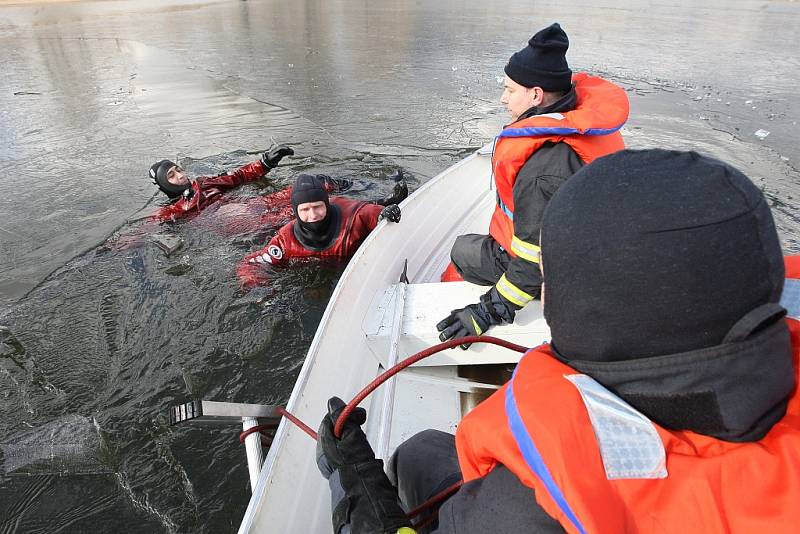
[{"label": "man in profile seated in boat, orange life vest and black beanie", "polygon": [[[511,323],[538,298],[539,229],[550,197],[590,161],[622,150],[628,118],[625,90],[585,73],[573,74],[567,34],[552,24],[505,66],[500,101],[511,123],[495,140],[492,170],[497,205],[489,235],[459,236],[442,281],[493,286],[479,302],[453,310],[437,324],[442,341],[480,335]],[[463,345],[462,348],[467,348]]]}]

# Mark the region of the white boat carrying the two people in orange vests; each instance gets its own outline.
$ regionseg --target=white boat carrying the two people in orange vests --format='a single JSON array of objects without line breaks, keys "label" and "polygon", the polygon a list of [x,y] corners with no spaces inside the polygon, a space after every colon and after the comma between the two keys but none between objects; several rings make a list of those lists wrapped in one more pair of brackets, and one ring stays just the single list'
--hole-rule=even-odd
[{"label": "white boat carrying the two people in orange vests", "polygon": [[[456,237],[486,233],[495,204],[491,147],[414,192],[399,224],[381,223],[343,273],[320,322],[287,409],[316,427],[327,400],[346,402],[398,361],[439,342],[436,323],[477,302],[486,287],[440,283]],[[409,283],[400,283],[407,261]],[[550,332],[538,301],[490,335],[533,347]],[[450,349],[390,379],[362,406],[378,457],[427,428],[454,432],[461,418],[510,377],[521,354],[489,344]],[[315,442],[281,421],[240,534],[331,532],[330,492],[317,470]]]}]

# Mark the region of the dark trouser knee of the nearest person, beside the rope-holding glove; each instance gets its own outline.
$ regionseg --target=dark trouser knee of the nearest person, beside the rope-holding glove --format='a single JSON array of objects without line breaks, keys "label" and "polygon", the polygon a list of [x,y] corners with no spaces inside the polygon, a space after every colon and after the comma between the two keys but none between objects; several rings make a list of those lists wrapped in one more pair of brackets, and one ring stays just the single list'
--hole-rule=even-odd
[{"label": "dark trouser knee of the nearest person, beside the rope-holding glove", "polygon": [[[441,430],[423,430],[397,447],[389,459],[386,471],[389,480],[397,487],[400,504],[409,512],[461,480],[456,438]],[[419,523],[438,511],[438,508],[436,506],[426,510],[414,518],[414,522]],[[435,521],[417,532],[424,534],[436,527]]]}]

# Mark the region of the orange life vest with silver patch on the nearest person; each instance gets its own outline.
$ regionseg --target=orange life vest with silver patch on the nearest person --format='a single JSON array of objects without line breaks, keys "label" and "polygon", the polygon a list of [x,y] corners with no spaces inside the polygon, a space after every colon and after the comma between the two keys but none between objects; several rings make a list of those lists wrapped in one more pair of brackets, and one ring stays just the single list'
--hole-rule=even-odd
[{"label": "orange life vest with silver patch on the nearest person", "polygon": [[[464,480],[502,463],[571,533],[798,531],[800,257],[787,258],[786,266],[781,304],[789,310],[795,389],[786,415],[761,440],[733,443],[660,427],[542,345],[461,421],[456,445]],[[598,422],[583,397],[597,387],[604,391],[599,405],[627,408],[647,428],[625,434],[608,419]],[[603,441],[603,424],[620,440]],[[609,446],[620,443],[616,451]]]}]

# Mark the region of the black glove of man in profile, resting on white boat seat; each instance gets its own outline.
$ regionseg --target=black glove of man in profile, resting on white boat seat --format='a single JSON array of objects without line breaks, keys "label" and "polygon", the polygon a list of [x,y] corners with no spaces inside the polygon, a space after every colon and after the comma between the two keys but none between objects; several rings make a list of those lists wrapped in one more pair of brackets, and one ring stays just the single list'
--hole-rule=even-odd
[{"label": "black glove of man in profile, resting on white boat seat", "polygon": [[[491,327],[514,322],[516,310],[506,299],[492,288],[481,295],[480,302],[453,310],[436,325],[439,339],[447,341],[464,336],[480,336]],[[459,345],[467,350],[470,343]]]}]

